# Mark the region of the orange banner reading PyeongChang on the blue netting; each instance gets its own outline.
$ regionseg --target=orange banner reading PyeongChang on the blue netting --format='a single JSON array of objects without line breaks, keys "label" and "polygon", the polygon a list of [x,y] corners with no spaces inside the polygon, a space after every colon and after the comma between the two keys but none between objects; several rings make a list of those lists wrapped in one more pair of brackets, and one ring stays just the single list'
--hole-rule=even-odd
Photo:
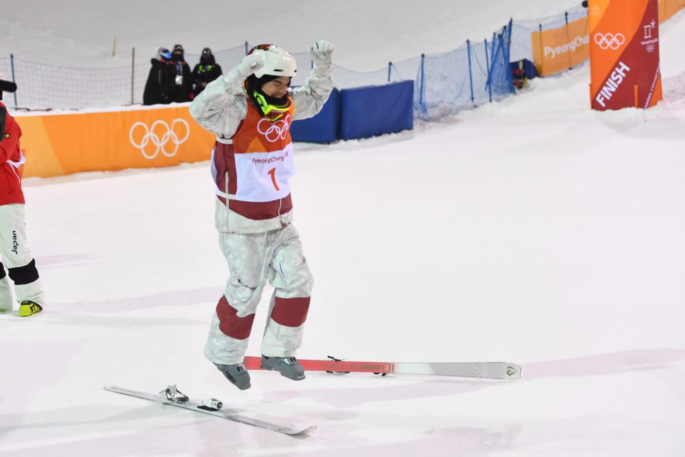
[{"label": "orange banner reading PyeongChang on the blue netting", "polygon": [[535,66],[540,75],[568,70],[590,55],[588,18],[578,19],[558,29],[533,32],[531,40]]}]

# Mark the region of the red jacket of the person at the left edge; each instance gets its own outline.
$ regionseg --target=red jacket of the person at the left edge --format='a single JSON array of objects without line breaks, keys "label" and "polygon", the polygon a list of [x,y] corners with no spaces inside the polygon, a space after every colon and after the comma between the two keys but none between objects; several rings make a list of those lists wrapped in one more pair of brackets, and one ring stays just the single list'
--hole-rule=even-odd
[{"label": "red jacket of the person at the left edge", "polygon": [[[5,107],[2,102],[0,106]],[[21,138],[21,128],[10,113],[7,113],[5,134],[0,141],[0,205],[25,203],[24,194],[21,191],[21,175],[19,175],[19,165],[25,160],[19,150],[19,138]]]}]

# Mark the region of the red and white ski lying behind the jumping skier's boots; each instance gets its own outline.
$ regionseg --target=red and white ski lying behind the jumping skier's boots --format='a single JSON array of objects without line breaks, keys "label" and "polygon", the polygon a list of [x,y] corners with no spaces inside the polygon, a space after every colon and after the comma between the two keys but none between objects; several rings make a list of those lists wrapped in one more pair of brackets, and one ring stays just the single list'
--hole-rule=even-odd
[{"label": "red and white ski lying behind the jumping skier's boots", "polygon": [[[306,371],[332,371],[336,373],[398,373],[405,375],[440,375],[460,378],[489,378],[517,380],[521,367],[508,362],[349,362],[329,356],[330,360],[306,360],[298,358]],[[245,357],[243,365],[248,370],[260,370],[260,357]]]}]

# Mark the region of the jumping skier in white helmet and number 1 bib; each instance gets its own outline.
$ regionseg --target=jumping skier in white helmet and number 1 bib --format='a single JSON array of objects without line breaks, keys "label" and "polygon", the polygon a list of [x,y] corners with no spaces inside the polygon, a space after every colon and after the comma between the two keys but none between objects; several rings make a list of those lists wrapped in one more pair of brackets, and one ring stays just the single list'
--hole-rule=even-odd
[{"label": "jumping skier in white helmet and number 1 bib", "polygon": [[310,77],[290,90],[295,58],[277,46],[258,45],[190,104],[193,119],[216,135],[214,225],[230,272],[204,353],[241,390],[250,387],[242,360],[267,279],[275,291],[261,365],[291,380],[305,378],[294,356],[309,310],[312,275],[292,225],[290,125],[314,116],[328,99],[332,52],[330,42],[314,42]]}]

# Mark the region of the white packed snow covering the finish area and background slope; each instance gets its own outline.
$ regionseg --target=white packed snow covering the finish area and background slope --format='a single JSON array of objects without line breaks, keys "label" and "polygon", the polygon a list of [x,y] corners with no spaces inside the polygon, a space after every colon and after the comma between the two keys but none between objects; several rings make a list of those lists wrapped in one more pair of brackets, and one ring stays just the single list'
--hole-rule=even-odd
[{"label": "white packed snow covering the finish area and background slope", "polygon": [[[0,1],[2,49],[77,64],[115,32],[150,48],[329,38],[336,62],[376,68],[580,2],[59,3]],[[412,132],[295,146],[315,277],[298,356],[501,360],[517,382],[256,371],[238,391],[202,355],[228,277],[207,162],[25,180],[49,301],[0,316],[0,456],[684,455],[684,36],[682,12],[662,25],[649,111],[590,112],[584,64]],[[103,390],[173,383],[316,430]]]}]

